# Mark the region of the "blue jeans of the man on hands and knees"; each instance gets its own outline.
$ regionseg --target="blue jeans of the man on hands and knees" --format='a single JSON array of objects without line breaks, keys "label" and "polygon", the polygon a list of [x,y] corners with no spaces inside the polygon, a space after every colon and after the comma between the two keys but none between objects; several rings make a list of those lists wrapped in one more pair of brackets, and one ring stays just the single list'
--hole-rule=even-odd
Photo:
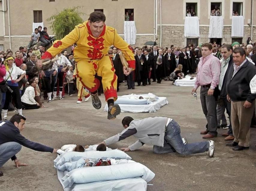
[{"label": "blue jeans of the man on hands and knees", "polygon": [[209,141],[184,144],[180,136],[179,124],[172,120],[166,127],[164,146],[154,145],[153,152],[155,154],[177,152],[181,155],[190,155],[195,153],[204,153],[209,150]]}]

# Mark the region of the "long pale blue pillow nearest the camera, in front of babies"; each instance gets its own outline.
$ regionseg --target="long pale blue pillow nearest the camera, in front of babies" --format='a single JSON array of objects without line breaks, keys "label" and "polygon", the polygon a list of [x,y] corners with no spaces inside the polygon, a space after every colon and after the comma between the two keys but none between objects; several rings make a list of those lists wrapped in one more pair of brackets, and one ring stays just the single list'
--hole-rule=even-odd
[{"label": "long pale blue pillow nearest the camera, in front of babies", "polygon": [[[104,172],[104,173],[103,173]],[[63,178],[65,188],[73,184],[83,184],[97,181],[118,180],[124,178],[141,177],[146,182],[151,181],[155,174],[138,162],[124,163],[110,166],[79,168],[68,172]]]}]

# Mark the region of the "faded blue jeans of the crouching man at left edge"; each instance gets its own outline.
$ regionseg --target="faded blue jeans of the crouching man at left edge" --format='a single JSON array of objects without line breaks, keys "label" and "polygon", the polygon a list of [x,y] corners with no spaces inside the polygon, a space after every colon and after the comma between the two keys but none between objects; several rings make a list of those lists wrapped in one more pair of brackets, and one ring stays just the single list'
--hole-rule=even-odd
[{"label": "faded blue jeans of the crouching man at left edge", "polygon": [[10,158],[19,153],[21,145],[17,142],[6,142],[0,144],[0,167],[4,165]]}]

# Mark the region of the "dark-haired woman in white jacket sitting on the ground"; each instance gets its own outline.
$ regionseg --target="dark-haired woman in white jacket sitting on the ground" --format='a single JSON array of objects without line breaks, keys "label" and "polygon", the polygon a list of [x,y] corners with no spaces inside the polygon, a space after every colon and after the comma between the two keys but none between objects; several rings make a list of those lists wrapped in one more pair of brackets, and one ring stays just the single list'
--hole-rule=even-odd
[{"label": "dark-haired woman in white jacket sitting on the ground", "polygon": [[26,88],[23,96],[21,97],[21,102],[23,109],[38,109],[40,107],[39,103],[35,100],[35,87],[36,81],[34,79],[29,80],[29,86]]}]

